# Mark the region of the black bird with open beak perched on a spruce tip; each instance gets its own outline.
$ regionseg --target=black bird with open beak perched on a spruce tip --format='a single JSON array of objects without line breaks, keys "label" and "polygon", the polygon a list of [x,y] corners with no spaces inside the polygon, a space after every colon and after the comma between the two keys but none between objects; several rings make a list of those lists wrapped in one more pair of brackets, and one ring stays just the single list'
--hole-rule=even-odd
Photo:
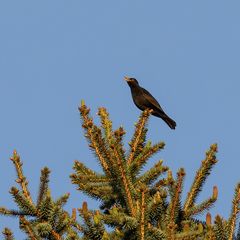
[{"label": "black bird with open beak perched on a spruce tip", "polygon": [[139,85],[137,79],[132,77],[124,77],[124,79],[131,89],[133,102],[140,110],[152,109],[152,115],[161,118],[171,129],[176,128],[176,122],[163,111],[151,93]]}]

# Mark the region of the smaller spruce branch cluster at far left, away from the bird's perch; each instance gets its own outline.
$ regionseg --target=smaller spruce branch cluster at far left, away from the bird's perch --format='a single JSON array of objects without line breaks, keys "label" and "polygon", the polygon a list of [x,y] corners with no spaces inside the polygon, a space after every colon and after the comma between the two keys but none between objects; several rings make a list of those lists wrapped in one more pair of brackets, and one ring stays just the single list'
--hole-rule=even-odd
[{"label": "smaller spruce branch cluster at far left, away from the bird's perch", "polygon": [[[37,202],[34,203],[28,190],[28,182],[23,175],[22,162],[16,151],[13,152],[11,160],[15,166],[20,189],[12,187],[10,194],[15,201],[18,210],[0,208],[0,214],[19,217],[19,228],[24,231],[29,239],[71,239],[70,236],[76,231],[72,226],[78,227],[75,219],[63,210],[69,194],[64,194],[57,200],[53,200],[48,188],[50,170],[45,167],[41,171],[40,186]],[[14,239],[12,232],[5,228],[3,231],[5,239]],[[78,239],[78,238],[75,238]]]}]

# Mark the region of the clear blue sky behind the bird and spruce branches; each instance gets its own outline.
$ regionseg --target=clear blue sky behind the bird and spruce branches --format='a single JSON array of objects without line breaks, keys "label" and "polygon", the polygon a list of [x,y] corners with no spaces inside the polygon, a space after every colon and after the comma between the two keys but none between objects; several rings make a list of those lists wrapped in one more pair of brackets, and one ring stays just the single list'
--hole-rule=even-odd
[{"label": "clear blue sky behind the bird and spruce branches", "polygon": [[[153,158],[186,170],[184,197],[211,143],[219,163],[198,201],[219,188],[211,210],[227,217],[240,169],[240,1],[1,1],[0,206],[14,208],[9,157],[17,149],[36,196],[40,170],[51,170],[54,197],[70,192],[66,209],[86,197],[71,185],[75,159],[99,165],[83,138],[77,107],[99,106],[130,139],[140,111],[124,75],[136,77],[177,122],[152,117],[149,139],[163,140]],[[98,120],[97,120],[98,122]],[[126,144],[127,147],[127,144]],[[90,207],[97,203],[89,200]],[[204,218],[205,215],[200,216]],[[0,217],[0,229],[18,221]]]}]

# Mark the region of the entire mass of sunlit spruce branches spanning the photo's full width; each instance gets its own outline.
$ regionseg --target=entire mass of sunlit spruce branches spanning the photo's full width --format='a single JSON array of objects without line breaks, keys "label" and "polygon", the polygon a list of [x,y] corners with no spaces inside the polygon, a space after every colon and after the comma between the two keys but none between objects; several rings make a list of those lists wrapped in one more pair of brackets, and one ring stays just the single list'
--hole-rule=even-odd
[{"label": "entire mass of sunlit spruce branches spanning the photo's full width", "polygon": [[[232,211],[228,219],[212,217],[207,212],[216,202],[218,189],[204,201],[197,202],[207,176],[217,163],[217,145],[206,152],[196,172],[191,188],[184,200],[185,170],[180,168],[176,177],[168,166],[159,160],[152,168],[143,171],[150,158],[163,150],[164,143],[147,141],[147,122],[151,110],[139,117],[129,149],[124,147],[125,131],[112,129],[112,122],[105,108],[99,108],[101,125],[94,124],[90,109],[82,102],[80,116],[89,148],[102,168],[98,173],[83,163],[75,161],[70,178],[77,189],[101,202],[92,210],[86,202],[69,214],[64,210],[69,194],[54,200],[48,187],[50,170],[41,171],[36,202],[28,190],[22,162],[16,151],[11,158],[17,173],[16,183],[10,194],[16,209],[0,208],[1,215],[19,218],[19,227],[31,240],[82,239],[82,240],[160,240],[160,239],[240,239],[240,230],[234,236],[239,214],[240,184],[235,188]],[[206,213],[206,221],[196,217]],[[77,216],[77,214],[79,216]],[[110,228],[109,228],[110,227]],[[111,229],[111,230],[109,230]],[[3,230],[6,240],[15,239],[10,229]]]}]

